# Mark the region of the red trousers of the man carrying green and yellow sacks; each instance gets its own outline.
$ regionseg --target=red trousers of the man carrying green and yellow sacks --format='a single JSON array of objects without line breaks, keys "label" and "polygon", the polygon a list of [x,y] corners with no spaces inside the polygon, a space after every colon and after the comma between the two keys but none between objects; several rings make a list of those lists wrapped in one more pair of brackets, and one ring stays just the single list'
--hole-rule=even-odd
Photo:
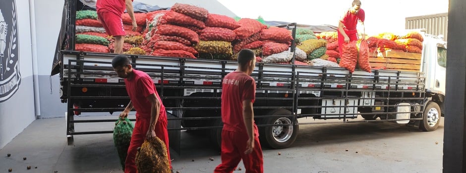
[{"label": "red trousers of the man carrying green and yellow sacks", "polygon": [[[166,113],[165,113],[166,114]],[[161,117],[165,117],[161,118]],[[155,134],[160,140],[165,142],[167,145],[168,160],[170,168],[172,168],[172,161],[170,159],[170,148],[168,141],[168,130],[167,130],[167,116],[159,115],[159,120],[155,125]],[[125,161],[124,173],[137,173],[135,158],[137,148],[142,145],[144,138],[146,138],[147,130],[149,130],[150,119],[136,118],[136,124],[134,125],[133,135],[131,136],[131,143],[128,148],[128,156]]]}]

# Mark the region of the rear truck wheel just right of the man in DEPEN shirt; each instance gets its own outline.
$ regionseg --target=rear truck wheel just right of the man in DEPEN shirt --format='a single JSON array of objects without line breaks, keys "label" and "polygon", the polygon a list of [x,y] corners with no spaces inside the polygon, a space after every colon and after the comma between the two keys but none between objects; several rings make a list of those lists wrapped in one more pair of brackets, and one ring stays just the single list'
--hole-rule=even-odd
[{"label": "rear truck wheel just right of the man in DEPEN shirt", "polygon": [[[285,109],[276,109],[270,111],[267,116],[273,115],[291,115],[291,112]],[[264,119],[264,125],[289,124],[290,117],[272,117]],[[283,127],[283,128],[282,128]],[[291,131],[290,131],[291,130]],[[273,149],[288,148],[296,140],[299,127],[294,126],[266,126],[260,129],[259,138],[261,143],[267,144]],[[277,134],[278,133],[278,134]]]}]

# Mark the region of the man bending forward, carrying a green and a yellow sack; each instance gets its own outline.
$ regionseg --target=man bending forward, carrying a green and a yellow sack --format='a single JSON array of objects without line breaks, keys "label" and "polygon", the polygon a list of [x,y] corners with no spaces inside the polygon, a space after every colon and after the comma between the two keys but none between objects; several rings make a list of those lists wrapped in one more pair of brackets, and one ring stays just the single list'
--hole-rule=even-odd
[{"label": "man bending forward, carrying a green and a yellow sack", "polygon": [[133,69],[125,55],[115,56],[112,60],[112,66],[118,77],[124,79],[126,92],[131,99],[120,117],[125,118],[131,109],[136,109],[136,123],[128,148],[124,172],[136,173],[135,157],[137,148],[142,145],[144,138],[155,137],[156,135],[167,145],[168,159],[170,165],[172,165],[167,131],[167,113],[155,89],[154,82],[146,73]]}]

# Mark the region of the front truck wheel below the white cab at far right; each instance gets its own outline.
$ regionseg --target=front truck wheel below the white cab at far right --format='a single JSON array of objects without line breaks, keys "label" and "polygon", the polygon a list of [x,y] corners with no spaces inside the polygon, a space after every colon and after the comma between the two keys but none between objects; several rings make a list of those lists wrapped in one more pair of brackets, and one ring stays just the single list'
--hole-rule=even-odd
[{"label": "front truck wheel below the white cab at far right", "polygon": [[421,122],[419,123],[419,129],[423,131],[437,130],[440,124],[441,115],[442,112],[440,110],[440,106],[433,101],[429,101],[424,108],[424,114]]}]

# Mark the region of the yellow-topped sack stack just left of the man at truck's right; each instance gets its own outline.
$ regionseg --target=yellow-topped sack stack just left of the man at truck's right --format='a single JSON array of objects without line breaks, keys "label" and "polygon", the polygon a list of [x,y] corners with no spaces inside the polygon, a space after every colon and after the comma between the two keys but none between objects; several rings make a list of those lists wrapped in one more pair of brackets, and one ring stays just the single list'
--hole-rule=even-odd
[{"label": "yellow-topped sack stack just left of the man at truck's right", "polygon": [[337,32],[323,32],[316,34],[318,39],[327,40],[327,51],[328,60],[332,62],[340,63],[340,51],[338,47],[338,33]]}]

